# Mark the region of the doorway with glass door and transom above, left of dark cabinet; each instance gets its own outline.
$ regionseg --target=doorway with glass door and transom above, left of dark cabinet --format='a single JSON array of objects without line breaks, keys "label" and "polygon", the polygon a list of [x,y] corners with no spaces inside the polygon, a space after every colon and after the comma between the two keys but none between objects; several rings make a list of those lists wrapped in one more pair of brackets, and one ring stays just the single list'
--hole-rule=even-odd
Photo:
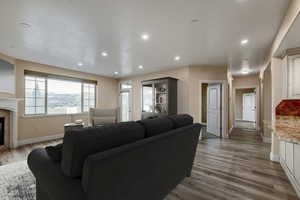
[{"label": "doorway with glass door and transom above, left of dark cabinet", "polygon": [[132,83],[131,81],[120,84],[120,122],[132,120]]}]

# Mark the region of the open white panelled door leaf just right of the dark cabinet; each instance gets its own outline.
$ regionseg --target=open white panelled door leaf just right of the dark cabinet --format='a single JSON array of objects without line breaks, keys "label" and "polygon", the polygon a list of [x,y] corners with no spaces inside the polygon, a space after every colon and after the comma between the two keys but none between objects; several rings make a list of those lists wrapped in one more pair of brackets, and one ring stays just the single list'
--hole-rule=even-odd
[{"label": "open white panelled door leaf just right of the dark cabinet", "polygon": [[221,136],[221,85],[207,87],[207,132]]}]

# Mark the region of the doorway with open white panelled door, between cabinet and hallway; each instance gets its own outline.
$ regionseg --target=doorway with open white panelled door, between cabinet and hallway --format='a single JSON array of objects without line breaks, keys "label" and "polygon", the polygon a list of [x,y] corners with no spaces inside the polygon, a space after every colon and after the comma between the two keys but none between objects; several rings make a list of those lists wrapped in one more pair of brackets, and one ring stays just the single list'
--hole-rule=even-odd
[{"label": "doorway with open white panelled door, between cabinet and hallway", "polygon": [[203,138],[220,138],[223,135],[224,86],[222,83],[201,83],[201,123]]}]

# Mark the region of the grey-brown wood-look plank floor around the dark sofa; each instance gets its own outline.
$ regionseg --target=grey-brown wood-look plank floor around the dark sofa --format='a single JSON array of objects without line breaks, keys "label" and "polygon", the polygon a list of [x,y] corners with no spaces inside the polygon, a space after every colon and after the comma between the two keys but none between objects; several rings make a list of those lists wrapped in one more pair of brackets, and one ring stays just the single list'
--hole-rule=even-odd
[{"label": "grey-brown wood-look plank floor around the dark sofa", "polygon": [[[16,150],[0,149],[0,162],[25,160],[33,148],[58,142]],[[256,132],[238,129],[231,139],[200,141],[192,176],[178,185],[166,200],[298,199],[281,166],[269,161],[270,148]]]}]

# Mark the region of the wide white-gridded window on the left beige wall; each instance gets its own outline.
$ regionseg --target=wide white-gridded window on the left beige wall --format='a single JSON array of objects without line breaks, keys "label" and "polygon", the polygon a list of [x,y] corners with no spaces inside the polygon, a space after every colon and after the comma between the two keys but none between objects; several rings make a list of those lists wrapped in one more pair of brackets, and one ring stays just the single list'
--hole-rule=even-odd
[{"label": "wide white-gridded window on the left beige wall", "polygon": [[95,106],[96,82],[25,73],[26,115],[75,114]]}]

